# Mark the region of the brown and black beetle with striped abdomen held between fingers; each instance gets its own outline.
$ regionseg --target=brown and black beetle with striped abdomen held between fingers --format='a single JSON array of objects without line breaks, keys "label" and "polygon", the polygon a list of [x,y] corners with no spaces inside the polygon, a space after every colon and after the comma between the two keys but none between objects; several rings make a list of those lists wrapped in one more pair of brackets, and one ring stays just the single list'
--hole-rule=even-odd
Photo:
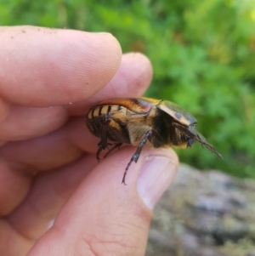
[{"label": "brown and black beetle with striped abdomen held between fingers", "polygon": [[88,111],[86,117],[88,129],[100,139],[98,160],[105,149],[108,149],[106,157],[122,144],[137,146],[123,174],[124,185],[127,170],[132,162],[138,162],[144,145],[190,148],[197,141],[222,158],[196,131],[196,123],[195,117],[175,103],[144,97],[101,101]]}]

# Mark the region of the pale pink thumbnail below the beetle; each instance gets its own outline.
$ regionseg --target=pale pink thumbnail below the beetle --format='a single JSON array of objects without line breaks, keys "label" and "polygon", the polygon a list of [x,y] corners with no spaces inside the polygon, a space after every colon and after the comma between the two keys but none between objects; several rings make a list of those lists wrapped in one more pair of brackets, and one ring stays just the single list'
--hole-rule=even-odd
[{"label": "pale pink thumbnail below the beetle", "polygon": [[176,173],[177,163],[165,156],[147,156],[139,173],[138,192],[148,208],[166,191]]}]

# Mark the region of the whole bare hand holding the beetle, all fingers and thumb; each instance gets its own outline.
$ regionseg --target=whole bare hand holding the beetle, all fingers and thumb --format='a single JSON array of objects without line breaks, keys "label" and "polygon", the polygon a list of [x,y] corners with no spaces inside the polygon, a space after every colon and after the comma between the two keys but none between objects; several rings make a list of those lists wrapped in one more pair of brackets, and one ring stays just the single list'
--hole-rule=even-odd
[{"label": "whole bare hand holding the beetle, all fingers and thumb", "polygon": [[[0,28],[0,255],[143,255],[152,208],[173,180],[171,149],[97,162],[84,117],[99,100],[138,97],[142,54],[108,33]],[[54,219],[54,222],[53,222]]]}]

